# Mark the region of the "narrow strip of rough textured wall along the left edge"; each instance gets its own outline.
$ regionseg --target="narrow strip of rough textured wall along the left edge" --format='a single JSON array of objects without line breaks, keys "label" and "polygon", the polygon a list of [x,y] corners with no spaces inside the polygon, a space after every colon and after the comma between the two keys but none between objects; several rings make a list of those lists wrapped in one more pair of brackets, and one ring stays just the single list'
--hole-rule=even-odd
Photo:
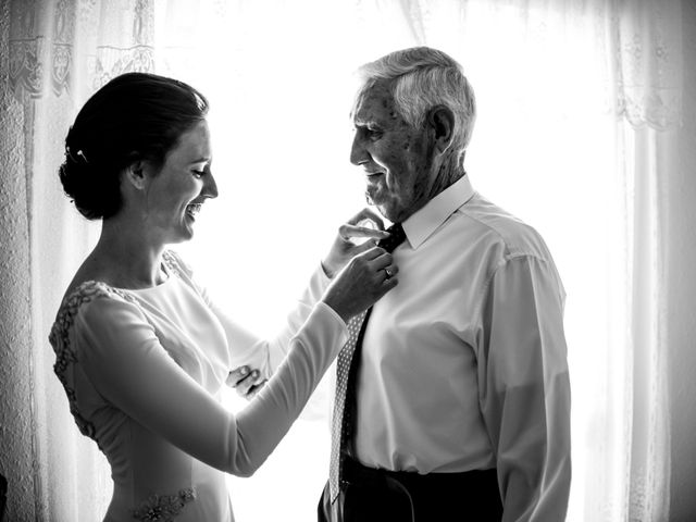
[{"label": "narrow strip of rough textured wall along the left edge", "polygon": [[34,520],[29,213],[23,109],[9,91],[10,2],[0,3],[0,473],[7,519]]}]

